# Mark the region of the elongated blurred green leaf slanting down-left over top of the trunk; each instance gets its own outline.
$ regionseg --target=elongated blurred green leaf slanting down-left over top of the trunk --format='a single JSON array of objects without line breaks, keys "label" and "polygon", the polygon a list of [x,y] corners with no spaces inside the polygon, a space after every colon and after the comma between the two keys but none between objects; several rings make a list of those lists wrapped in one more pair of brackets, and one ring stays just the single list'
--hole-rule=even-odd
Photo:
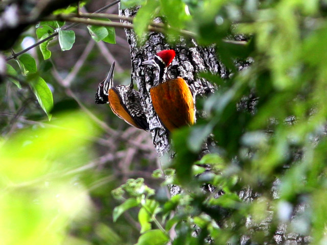
[{"label": "elongated blurred green leaf slanting down-left over top of the trunk", "polygon": [[155,9],[159,6],[157,1],[147,1],[141,9],[137,11],[134,18],[134,31],[139,38],[144,37],[145,33],[148,31],[148,26],[150,21],[153,19]]}]

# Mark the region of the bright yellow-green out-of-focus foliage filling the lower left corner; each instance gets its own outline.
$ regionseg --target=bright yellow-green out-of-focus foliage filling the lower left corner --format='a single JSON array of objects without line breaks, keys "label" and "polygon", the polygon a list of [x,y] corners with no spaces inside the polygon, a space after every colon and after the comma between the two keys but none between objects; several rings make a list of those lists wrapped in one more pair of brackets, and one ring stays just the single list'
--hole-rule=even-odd
[{"label": "bright yellow-green out-of-focus foliage filling the lower left corner", "polygon": [[[81,113],[53,118],[45,128],[24,129],[0,148],[0,233],[3,244],[62,244],[72,222],[92,210],[79,171],[92,157],[95,127]],[[85,244],[75,242],[74,244]]]}]

